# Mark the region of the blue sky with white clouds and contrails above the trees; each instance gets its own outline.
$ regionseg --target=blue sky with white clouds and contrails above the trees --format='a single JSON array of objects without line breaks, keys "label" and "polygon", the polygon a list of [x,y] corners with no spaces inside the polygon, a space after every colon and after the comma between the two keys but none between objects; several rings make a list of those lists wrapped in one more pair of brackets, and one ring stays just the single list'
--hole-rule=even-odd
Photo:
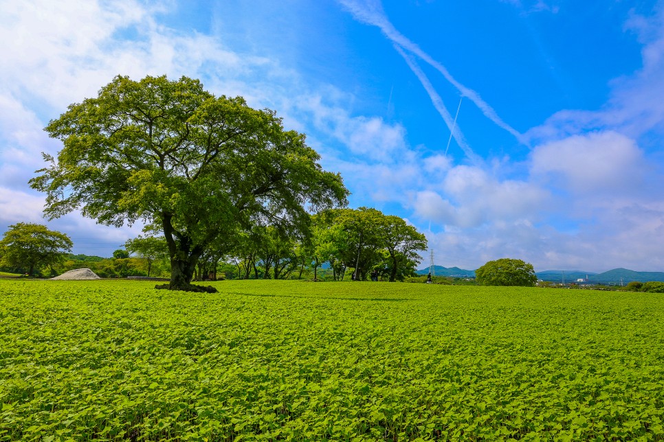
[{"label": "blue sky with white clouds and contrails above the trees", "polygon": [[68,104],[114,75],[165,73],[276,110],[341,172],[351,207],[417,226],[436,264],[664,270],[664,1],[0,8],[0,232],[41,222],[102,256],[140,233],[47,222],[27,180],[60,148],[43,127]]}]

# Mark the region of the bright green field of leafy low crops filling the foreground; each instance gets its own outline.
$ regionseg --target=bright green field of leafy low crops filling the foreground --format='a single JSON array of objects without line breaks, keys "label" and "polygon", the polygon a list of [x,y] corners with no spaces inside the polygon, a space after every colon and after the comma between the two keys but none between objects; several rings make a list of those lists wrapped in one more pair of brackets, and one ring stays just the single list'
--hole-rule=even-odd
[{"label": "bright green field of leafy low crops filling the foreground", "polygon": [[664,297],[0,280],[0,441],[664,440]]}]

